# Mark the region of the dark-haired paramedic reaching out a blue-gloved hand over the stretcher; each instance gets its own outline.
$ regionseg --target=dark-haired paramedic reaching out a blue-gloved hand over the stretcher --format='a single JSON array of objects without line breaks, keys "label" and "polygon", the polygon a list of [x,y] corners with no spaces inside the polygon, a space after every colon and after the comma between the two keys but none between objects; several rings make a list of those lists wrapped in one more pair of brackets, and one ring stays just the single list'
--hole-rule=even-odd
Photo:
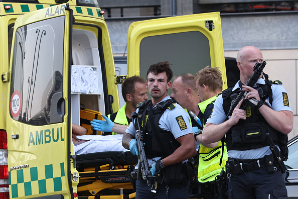
[{"label": "dark-haired paramedic reaching out a blue-gloved hand over the stretcher", "polygon": [[136,105],[147,100],[147,88],[144,79],[140,76],[131,76],[125,79],[121,85],[122,96],[125,105],[118,112],[106,116],[102,116],[105,121],[93,120],[91,126],[96,131],[103,131],[114,134],[124,134],[129,125],[131,113],[135,112]]}]

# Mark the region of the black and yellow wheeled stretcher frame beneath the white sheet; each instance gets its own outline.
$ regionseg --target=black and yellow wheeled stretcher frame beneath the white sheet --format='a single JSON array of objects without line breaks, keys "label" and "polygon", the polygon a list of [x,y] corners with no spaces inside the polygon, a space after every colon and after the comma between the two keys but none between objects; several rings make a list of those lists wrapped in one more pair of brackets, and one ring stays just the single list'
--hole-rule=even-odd
[{"label": "black and yellow wheeled stretcher frame beneath the white sheet", "polygon": [[78,198],[134,198],[127,168],[138,162],[130,151],[109,151],[76,156]]}]

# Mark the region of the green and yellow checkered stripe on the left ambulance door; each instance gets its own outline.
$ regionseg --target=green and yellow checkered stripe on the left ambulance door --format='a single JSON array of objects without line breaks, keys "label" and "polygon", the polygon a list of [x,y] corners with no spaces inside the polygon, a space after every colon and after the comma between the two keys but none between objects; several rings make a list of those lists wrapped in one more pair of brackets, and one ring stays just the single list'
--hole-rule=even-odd
[{"label": "green and yellow checkered stripe on the left ambulance door", "polygon": [[9,171],[12,198],[65,190],[65,180],[63,162],[60,165],[54,165],[54,167],[53,164],[49,164],[43,167],[28,167]]}]

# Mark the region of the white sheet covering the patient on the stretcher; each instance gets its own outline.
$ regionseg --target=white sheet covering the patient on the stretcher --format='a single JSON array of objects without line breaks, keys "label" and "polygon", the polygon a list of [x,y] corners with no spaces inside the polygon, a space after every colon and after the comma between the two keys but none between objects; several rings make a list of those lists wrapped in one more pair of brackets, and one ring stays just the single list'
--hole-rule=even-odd
[{"label": "white sheet covering the patient on the stretcher", "polygon": [[89,140],[74,147],[76,155],[103,151],[128,151],[122,146],[123,135],[84,135],[77,136],[80,140]]}]

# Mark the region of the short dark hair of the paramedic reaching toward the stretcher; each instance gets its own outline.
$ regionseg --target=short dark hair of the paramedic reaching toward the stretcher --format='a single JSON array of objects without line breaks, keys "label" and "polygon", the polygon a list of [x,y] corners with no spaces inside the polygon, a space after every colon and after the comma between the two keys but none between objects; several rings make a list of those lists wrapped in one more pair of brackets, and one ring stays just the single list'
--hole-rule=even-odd
[{"label": "short dark hair of the paramedic reaching toward the stretcher", "polygon": [[144,78],[134,75],[131,77],[126,78],[122,85],[122,97],[125,102],[127,102],[126,94],[131,94],[134,95],[135,89],[134,89],[134,83],[139,82],[139,83],[145,83]]}]

